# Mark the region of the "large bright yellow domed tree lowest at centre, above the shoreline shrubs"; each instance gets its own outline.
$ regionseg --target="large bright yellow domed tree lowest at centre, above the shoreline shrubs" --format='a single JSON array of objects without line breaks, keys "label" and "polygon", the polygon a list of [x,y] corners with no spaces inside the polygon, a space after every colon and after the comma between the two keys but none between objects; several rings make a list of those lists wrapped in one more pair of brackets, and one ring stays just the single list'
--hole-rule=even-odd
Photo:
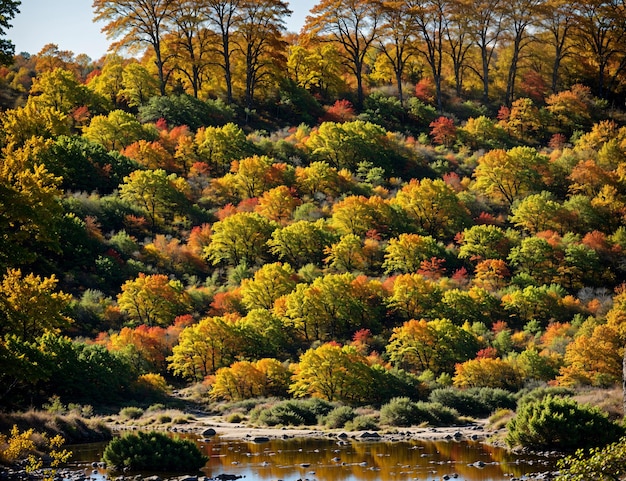
[{"label": "large bright yellow domed tree lowest at centre, above the shoreline shrubs", "polygon": [[357,404],[369,399],[372,382],[366,358],[353,346],[327,343],[300,356],[289,391],[296,397]]}]

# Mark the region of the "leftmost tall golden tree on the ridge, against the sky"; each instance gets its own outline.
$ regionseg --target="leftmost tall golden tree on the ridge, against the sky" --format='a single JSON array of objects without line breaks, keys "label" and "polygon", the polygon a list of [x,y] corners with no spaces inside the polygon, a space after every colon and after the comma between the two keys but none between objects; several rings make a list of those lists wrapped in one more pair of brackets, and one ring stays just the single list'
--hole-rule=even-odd
[{"label": "leftmost tall golden tree on the ridge, against the sky", "polygon": [[94,21],[106,22],[103,31],[108,38],[121,38],[113,47],[133,47],[148,44],[155,55],[154,64],[159,77],[159,90],[165,95],[167,75],[163,56],[163,36],[168,21],[176,14],[178,2],[171,0],[94,0]]}]

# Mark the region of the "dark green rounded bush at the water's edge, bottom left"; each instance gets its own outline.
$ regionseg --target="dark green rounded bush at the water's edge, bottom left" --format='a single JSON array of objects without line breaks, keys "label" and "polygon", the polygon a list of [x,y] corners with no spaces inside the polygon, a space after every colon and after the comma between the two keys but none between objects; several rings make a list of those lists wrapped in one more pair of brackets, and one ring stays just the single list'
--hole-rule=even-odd
[{"label": "dark green rounded bush at the water's edge, bottom left", "polygon": [[198,471],[208,458],[193,441],[153,431],[114,439],[104,449],[103,460],[117,469],[181,473]]}]

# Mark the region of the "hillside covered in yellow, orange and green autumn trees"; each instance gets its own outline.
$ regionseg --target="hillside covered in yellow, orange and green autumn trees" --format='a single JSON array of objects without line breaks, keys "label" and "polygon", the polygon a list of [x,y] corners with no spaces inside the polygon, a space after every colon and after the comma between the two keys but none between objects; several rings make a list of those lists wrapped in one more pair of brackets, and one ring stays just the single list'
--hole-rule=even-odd
[{"label": "hillside covered in yellow, orange and green autumn trees", "polygon": [[623,3],[93,8],[0,69],[3,409],[619,384]]}]

